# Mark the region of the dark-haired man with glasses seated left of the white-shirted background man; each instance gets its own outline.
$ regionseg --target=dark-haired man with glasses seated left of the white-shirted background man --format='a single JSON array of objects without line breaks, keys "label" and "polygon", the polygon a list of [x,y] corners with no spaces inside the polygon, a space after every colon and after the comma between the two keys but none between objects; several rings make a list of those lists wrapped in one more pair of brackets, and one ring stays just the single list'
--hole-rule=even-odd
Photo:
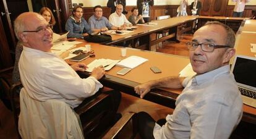
[{"label": "dark-haired man with glasses seated left of the white-shirted background man", "polygon": [[106,32],[109,29],[118,30],[118,27],[112,25],[106,17],[103,17],[103,10],[101,6],[93,7],[93,11],[94,14],[88,20],[88,24],[93,32]]}]

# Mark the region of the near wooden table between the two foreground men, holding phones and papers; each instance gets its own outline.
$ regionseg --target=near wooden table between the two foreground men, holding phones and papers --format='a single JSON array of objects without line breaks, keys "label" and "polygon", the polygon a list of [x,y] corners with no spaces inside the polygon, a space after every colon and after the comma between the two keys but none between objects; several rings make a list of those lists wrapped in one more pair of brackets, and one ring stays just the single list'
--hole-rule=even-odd
[{"label": "near wooden table between the two foreground men, holding phones and papers", "polygon": [[[100,82],[103,85],[113,88],[129,95],[135,94],[134,86],[140,85],[141,83],[148,82],[149,80],[156,80],[168,76],[179,75],[186,65],[190,63],[188,57],[176,56],[173,54],[157,53],[153,51],[145,51],[141,49],[127,48],[126,57],[121,56],[121,48],[106,46],[96,43],[83,43],[77,44],[77,47],[83,47],[85,44],[90,44],[94,51],[95,57],[88,57],[82,62],[85,64],[90,64],[90,62],[95,59],[113,59],[122,60],[129,56],[140,56],[148,59],[147,62],[135,67],[126,75],[116,74],[122,67],[114,66],[111,70],[106,71],[105,77],[103,77]],[[66,60],[68,64],[74,64],[74,62]],[[156,66],[161,70],[161,73],[154,74],[150,67]],[[90,75],[88,72],[79,72],[80,77],[86,78]],[[175,108],[175,101],[177,96],[182,92],[181,89],[169,89],[169,88],[157,88],[153,89],[145,96],[144,99],[152,101],[163,106]],[[242,120],[250,123],[256,124],[256,109],[254,107],[246,106],[244,104],[244,115]]]}]

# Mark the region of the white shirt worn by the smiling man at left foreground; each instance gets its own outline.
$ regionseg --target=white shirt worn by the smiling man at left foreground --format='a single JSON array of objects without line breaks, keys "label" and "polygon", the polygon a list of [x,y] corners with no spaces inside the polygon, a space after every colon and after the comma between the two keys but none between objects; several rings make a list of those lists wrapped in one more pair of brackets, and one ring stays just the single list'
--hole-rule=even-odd
[{"label": "white shirt worn by the smiling man at left foreground", "polygon": [[55,54],[25,46],[19,60],[19,72],[22,85],[31,98],[39,101],[59,99],[73,108],[103,86],[94,77],[80,78]]}]

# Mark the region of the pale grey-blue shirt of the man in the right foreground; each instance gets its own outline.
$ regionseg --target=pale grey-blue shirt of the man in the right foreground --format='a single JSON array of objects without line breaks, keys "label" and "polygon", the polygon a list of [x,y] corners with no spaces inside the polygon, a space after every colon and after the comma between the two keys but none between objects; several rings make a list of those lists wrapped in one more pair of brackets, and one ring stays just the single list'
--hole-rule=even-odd
[{"label": "pale grey-blue shirt of the man in the right foreground", "polygon": [[154,137],[228,139],[242,117],[242,98],[229,65],[186,78],[183,85],[166,124],[155,124]]}]

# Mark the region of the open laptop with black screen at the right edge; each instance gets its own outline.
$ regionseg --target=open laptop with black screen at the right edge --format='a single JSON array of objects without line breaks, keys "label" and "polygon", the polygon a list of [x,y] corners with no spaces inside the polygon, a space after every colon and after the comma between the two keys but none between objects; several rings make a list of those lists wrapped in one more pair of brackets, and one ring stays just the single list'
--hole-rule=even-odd
[{"label": "open laptop with black screen at the right edge", "polygon": [[256,57],[236,56],[231,67],[244,104],[256,107]]}]

